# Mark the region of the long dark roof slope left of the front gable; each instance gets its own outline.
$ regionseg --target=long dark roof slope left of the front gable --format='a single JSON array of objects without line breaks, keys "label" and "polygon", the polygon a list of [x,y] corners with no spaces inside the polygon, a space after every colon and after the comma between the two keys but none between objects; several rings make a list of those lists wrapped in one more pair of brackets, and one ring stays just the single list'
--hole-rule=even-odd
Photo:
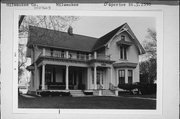
[{"label": "long dark roof slope left of the front gable", "polygon": [[55,31],[35,26],[29,26],[28,47],[39,45],[44,47],[62,48],[67,50],[91,52],[97,38],[70,35],[66,32]]}]

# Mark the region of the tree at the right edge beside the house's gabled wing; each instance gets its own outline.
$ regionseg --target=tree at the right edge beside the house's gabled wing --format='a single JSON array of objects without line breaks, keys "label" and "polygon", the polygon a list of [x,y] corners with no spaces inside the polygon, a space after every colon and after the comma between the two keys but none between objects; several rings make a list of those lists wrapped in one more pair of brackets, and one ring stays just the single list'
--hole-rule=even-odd
[{"label": "tree at the right edge beside the house's gabled wing", "polygon": [[143,42],[146,54],[143,56],[144,60],[140,62],[140,79],[144,83],[154,83],[157,76],[156,31],[148,29],[147,32],[148,35]]}]

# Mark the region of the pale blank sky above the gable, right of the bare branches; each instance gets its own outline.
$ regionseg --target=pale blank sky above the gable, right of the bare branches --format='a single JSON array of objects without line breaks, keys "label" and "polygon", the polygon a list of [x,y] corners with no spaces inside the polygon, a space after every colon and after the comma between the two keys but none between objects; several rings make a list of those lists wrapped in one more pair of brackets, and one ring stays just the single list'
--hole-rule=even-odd
[{"label": "pale blank sky above the gable, right of the bare branches", "polygon": [[72,27],[75,34],[99,38],[124,23],[128,23],[140,42],[148,28],[155,29],[155,18],[152,17],[80,17]]}]

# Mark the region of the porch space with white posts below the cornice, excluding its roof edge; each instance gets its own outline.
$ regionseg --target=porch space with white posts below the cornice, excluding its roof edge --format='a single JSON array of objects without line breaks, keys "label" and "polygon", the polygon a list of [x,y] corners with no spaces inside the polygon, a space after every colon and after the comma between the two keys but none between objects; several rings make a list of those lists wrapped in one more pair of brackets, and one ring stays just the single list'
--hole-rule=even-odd
[{"label": "porch space with white posts below the cornice, excluding its roof edge", "polygon": [[112,69],[94,66],[55,65],[43,62],[34,70],[36,91],[68,91],[109,89]]}]

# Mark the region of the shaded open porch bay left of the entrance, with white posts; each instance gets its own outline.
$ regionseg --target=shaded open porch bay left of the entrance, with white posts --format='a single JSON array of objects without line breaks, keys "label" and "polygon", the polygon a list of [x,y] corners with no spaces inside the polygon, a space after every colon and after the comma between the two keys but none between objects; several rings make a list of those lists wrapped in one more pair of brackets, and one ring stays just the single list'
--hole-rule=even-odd
[{"label": "shaded open porch bay left of the entrance, with white posts", "polygon": [[47,64],[39,69],[39,90],[84,90],[87,88],[87,68],[85,67]]}]

